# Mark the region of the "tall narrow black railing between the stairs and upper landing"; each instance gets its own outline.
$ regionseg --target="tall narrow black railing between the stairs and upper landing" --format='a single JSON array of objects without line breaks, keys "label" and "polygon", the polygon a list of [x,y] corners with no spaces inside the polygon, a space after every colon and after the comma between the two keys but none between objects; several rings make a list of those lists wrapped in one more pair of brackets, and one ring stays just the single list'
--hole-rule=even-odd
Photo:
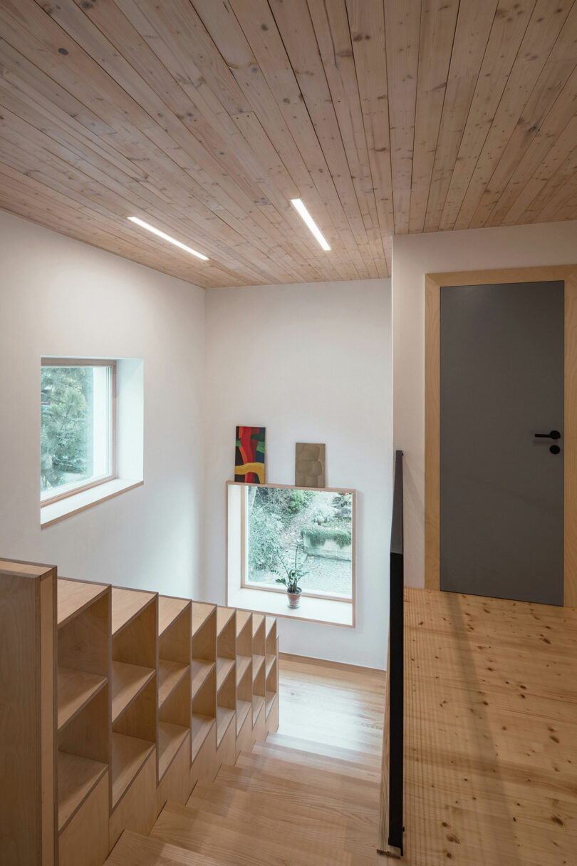
[{"label": "tall narrow black railing between the stairs and upper landing", "polygon": [[403,851],[403,453],[394,453],[388,632],[388,844]]}]

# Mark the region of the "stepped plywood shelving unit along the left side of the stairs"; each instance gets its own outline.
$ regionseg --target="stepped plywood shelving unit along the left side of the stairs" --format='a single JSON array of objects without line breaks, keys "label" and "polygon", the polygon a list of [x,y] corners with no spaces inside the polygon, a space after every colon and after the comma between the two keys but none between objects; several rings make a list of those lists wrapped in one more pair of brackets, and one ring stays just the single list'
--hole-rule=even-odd
[{"label": "stepped plywood shelving unit along the left side of the stairs", "polygon": [[[15,604],[8,618],[0,610],[0,623],[18,657],[42,626],[42,677],[33,654],[22,670],[41,689],[36,735],[42,754],[54,749],[54,762],[42,763],[41,746],[29,739],[19,760],[23,766],[30,753],[26,778],[35,790],[42,764],[42,808],[54,811],[59,866],[102,866],[123,830],[148,833],[167,799],[184,804],[197,779],[214,779],[222,763],[276,729],[276,623],[156,592],[57,580],[52,566],[0,559],[8,591],[27,597],[29,579],[38,581],[28,598],[42,598],[40,608]],[[17,800],[21,813],[33,808],[33,793]],[[10,813],[9,800],[3,810]],[[42,837],[34,850],[54,850],[49,820],[31,821],[22,845],[30,832]],[[53,863],[49,855],[42,862]]]}]

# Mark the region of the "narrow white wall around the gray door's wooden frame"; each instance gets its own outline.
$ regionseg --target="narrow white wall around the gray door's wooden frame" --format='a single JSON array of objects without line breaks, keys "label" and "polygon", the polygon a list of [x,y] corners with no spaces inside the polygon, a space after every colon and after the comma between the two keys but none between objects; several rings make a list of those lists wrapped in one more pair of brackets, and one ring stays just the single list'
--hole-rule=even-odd
[{"label": "narrow white wall around the gray door's wooden frame", "polygon": [[425,306],[429,273],[577,262],[577,223],[393,238],[394,447],[404,451],[405,581],[424,584]]}]

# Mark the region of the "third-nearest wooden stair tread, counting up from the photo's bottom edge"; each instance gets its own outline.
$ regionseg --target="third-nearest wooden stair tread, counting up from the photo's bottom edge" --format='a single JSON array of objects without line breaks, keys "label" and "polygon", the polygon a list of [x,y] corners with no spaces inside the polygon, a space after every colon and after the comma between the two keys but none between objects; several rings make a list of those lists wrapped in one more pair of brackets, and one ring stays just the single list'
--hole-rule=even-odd
[{"label": "third-nearest wooden stair tread, counting up from the photo's bottom edge", "polygon": [[350,818],[343,805],[336,809],[325,805],[311,809],[301,804],[298,794],[287,809],[285,802],[270,794],[239,791],[214,782],[197,783],[187,807],[241,819],[247,830],[251,830],[255,822],[260,827],[268,824],[279,840],[286,834],[291,841],[296,839],[295,826],[298,825],[298,847],[305,845],[308,849],[309,843],[316,842],[322,844],[324,850],[337,847],[362,856],[375,853],[376,812],[372,818]]}]

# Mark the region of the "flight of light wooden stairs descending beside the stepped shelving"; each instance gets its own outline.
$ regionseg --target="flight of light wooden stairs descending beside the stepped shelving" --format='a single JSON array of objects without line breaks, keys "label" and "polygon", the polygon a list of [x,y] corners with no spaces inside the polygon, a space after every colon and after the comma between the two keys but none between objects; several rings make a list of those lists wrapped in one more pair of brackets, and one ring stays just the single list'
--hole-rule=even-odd
[{"label": "flight of light wooden stairs descending beside the stepped shelving", "polygon": [[125,832],[108,866],[374,866],[379,767],[279,740],[198,781],[186,805],[169,801],[150,836]]}]

